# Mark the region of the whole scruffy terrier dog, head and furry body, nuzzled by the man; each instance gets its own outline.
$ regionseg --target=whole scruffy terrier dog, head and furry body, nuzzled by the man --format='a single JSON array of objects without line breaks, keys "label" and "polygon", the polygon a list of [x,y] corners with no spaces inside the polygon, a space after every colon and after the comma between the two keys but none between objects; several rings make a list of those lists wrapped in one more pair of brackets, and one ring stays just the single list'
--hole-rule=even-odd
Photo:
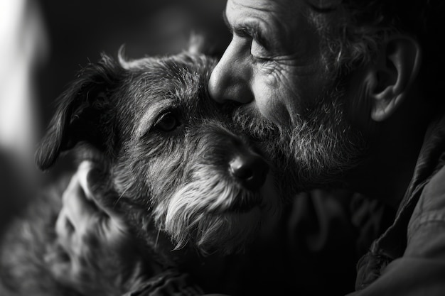
[{"label": "whole scruffy terrier dog, head and furry body, nuzzled by the man", "polygon": [[[77,190],[65,182],[14,221],[1,246],[1,295],[123,295],[141,285],[158,295],[147,291],[175,278],[177,295],[198,295],[171,271],[172,248],[234,253],[254,239],[264,213],[278,208],[272,172],[208,98],[214,65],[196,53],[119,62],[104,55],[80,72],[36,160],[47,170],[75,151],[79,182],[91,192],[62,198],[67,186]],[[117,229],[109,248],[76,219],[88,209],[103,229]]]}]

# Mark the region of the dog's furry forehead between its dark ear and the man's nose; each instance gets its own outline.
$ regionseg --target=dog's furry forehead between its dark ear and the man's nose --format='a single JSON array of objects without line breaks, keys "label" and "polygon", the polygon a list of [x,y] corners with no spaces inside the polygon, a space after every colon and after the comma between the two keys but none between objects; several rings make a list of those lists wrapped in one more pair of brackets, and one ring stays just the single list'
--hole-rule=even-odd
[{"label": "dog's furry forehead between its dark ear and the man's nose", "polygon": [[[208,65],[182,58],[145,58],[123,65],[129,72],[122,118],[132,117],[134,131],[143,133],[168,109],[189,113],[203,104]],[[204,100],[203,100],[204,99]],[[194,112],[193,112],[194,113]],[[126,121],[126,120],[124,120]],[[128,122],[128,121],[127,121]]]}]

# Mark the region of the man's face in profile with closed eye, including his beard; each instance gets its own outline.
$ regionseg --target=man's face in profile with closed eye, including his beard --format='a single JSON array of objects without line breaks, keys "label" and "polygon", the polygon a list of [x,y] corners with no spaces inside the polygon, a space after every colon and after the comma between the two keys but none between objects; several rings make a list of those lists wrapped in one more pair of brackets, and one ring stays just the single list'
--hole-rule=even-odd
[{"label": "man's face in profile with closed eye, including his beard", "polygon": [[228,0],[233,37],[209,82],[213,99],[242,103],[235,119],[276,163],[293,168],[284,174],[299,189],[336,179],[365,149],[348,124],[345,88],[327,70],[309,9],[306,1]]}]

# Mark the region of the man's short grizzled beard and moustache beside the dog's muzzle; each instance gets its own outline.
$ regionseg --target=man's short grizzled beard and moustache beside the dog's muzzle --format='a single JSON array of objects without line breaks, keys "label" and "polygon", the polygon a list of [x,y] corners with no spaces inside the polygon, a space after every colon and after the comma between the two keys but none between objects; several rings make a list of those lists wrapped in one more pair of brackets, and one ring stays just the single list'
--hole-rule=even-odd
[{"label": "man's short grizzled beard and moustache beside the dog's muzzle", "polygon": [[329,89],[287,129],[250,107],[235,110],[235,123],[259,142],[274,163],[274,175],[284,196],[313,188],[341,187],[342,175],[363,159],[368,143],[350,125],[345,99],[340,86]]}]

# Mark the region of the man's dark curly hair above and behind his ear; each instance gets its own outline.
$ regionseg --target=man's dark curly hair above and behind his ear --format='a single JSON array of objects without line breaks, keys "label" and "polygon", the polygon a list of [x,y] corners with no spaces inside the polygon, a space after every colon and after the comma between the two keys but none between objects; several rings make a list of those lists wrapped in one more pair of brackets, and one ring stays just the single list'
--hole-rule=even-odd
[{"label": "man's dark curly hair above and behind his ear", "polygon": [[307,0],[307,3],[312,8],[309,18],[324,40],[323,57],[330,70],[347,74],[372,60],[385,36],[403,33],[422,47],[424,73],[419,77],[423,77],[423,89],[434,88],[443,81],[444,55],[438,45],[444,39],[444,1]]}]

